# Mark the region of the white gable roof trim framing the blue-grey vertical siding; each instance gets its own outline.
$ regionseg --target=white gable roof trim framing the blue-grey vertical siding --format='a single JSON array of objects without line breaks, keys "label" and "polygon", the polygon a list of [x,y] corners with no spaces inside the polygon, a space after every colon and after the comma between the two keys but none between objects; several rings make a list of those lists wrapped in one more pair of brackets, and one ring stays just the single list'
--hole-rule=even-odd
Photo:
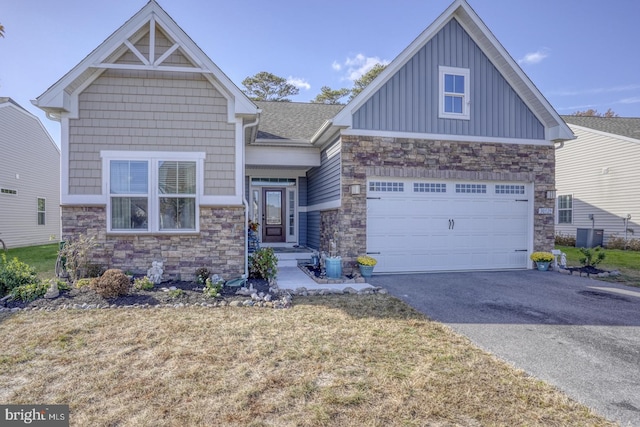
[{"label": "white gable roof trim framing the blue-grey vertical siding", "polygon": [[482,22],[466,0],[455,0],[429,27],[427,27],[400,55],[398,55],[378,77],[333,119],[337,127],[351,127],[353,114],[369,97],[376,93],[396,72],[413,58],[418,50],[428,43],[452,19],[456,19],[480,47],[491,63],[520,96],[545,127],[545,139],[563,141],[574,135],[562,121],[551,104],[531,82],[520,66],[500,44],[489,28]]}]

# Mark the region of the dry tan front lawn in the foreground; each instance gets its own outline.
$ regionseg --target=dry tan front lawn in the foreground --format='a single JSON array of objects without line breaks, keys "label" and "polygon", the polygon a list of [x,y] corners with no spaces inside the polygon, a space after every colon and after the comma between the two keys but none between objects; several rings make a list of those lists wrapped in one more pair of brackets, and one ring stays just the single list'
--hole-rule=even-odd
[{"label": "dry tan front lawn in the foreground", "polygon": [[388,295],[0,313],[0,402],[72,426],[609,426]]}]

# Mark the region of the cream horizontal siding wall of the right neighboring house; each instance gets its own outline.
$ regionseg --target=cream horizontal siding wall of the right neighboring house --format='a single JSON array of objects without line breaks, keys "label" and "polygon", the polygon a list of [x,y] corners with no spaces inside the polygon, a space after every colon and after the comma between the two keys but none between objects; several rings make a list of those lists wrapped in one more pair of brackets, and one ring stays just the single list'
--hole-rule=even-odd
[{"label": "cream horizontal siding wall of the right neighboring house", "polygon": [[[630,238],[640,238],[640,141],[617,138],[569,125],[577,139],[556,150],[557,195],[573,196],[573,222],[558,224],[556,233],[575,236],[578,228],[604,230],[604,244],[624,237],[624,218],[631,215]],[[593,214],[592,224],[589,215]]]}]

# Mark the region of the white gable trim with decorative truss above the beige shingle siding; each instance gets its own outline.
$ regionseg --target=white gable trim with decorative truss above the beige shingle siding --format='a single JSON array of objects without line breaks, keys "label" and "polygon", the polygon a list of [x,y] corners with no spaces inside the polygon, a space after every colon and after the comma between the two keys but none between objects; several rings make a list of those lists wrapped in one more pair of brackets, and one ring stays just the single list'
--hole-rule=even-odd
[{"label": "white gable trim with decorative truss above the beige shingle siding", "polygon": [[[156,52],[155,38],[158,31],[172,45]],[[134,45],[147,35],[150,40],[148,52],[141,52]],[[189,64],[176,65],[167,61],[176,52],[186,58]],[[117,62],[126,53],[137,58],[137,63]],[[209,59],[156,0],[149,0],[138,13],[32,103],[49,116],[71,113],[72,117],[76,117],[77,95],[107,69],[202,73],[227,99],[229,121],[235,116],[257,114],[255,104]]]}]

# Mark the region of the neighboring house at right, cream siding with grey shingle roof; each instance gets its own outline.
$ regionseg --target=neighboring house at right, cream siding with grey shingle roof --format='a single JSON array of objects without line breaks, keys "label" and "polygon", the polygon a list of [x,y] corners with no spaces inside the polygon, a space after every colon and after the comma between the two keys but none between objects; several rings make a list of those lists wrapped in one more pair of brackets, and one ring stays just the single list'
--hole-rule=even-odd
[{"label": "neighboring house at right, cream siding with grey shingle roof", "polygon": [[556,150],[556,233],[640,238],[640,118],[563,119],[577,138]]}]

